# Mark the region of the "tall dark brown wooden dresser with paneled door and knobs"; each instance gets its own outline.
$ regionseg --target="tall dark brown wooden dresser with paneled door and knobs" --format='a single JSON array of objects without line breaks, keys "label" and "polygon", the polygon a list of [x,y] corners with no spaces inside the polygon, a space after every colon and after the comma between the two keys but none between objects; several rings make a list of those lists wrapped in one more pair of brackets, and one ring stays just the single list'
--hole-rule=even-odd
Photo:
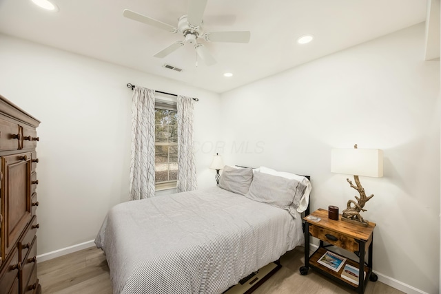
[{"label": "tall dark brown wooden dresser with paneled door and knobs", "polygon": [[41,293],[35,235],[39,124],[0,95],[0,294]]}]

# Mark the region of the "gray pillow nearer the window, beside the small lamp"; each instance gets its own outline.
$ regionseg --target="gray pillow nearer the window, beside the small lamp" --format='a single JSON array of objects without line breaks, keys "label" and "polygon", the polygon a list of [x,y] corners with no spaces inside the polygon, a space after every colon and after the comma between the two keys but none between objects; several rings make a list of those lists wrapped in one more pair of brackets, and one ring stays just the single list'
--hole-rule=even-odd
[{"label": "gray pillow nearer the window, beside the small lamp", "polygon": [[253,169],[251,167],[236,169],[225,165],[222,176],[220,176],[219,187],[233,193],[245,195],[253,180]]}]

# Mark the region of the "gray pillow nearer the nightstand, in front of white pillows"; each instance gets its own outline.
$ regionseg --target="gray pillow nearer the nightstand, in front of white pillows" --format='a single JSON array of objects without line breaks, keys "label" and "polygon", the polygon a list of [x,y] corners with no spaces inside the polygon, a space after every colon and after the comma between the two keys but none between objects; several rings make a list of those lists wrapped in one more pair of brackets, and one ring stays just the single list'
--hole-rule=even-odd
[{"label": "gray pillow nearer the nightstand, in front of white pillows", "polygon": [[296,218],[296,209],[306,185],[295,179],[254,172],[253,182],[245,197],[285,209]]}]

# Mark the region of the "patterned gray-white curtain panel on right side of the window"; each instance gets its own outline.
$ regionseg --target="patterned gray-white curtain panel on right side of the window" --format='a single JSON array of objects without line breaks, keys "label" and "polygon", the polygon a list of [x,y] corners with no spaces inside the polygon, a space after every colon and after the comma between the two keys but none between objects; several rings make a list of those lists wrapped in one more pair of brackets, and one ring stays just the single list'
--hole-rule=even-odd
[{"label": "patterned gray-white curtain panel on right side of the window", "polygon": [[178,192],[196,190],[193,143],[193,98],[178,95]]}]

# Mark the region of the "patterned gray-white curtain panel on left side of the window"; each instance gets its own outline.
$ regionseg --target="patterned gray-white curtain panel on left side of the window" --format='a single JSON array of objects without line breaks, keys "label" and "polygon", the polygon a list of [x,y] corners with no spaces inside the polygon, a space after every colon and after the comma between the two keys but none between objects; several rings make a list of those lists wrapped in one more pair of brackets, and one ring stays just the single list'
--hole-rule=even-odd
[{"label": "patterned gray-white curtain panel on left side of the window", "polygon": [[154,90],[136,86],[132,103],[130,200],[154,196]]}]

